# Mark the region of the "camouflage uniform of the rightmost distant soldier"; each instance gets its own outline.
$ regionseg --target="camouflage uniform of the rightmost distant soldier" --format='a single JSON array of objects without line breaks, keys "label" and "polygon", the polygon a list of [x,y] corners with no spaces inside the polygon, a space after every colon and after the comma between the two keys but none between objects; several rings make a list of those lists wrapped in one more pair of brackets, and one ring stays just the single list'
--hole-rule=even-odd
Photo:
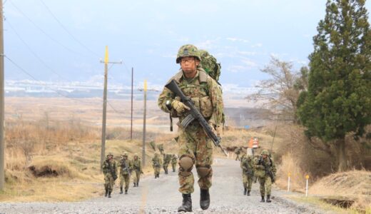
[{"label": "camouflage uniform of the rightmost distant soldier", "polygon": [[270,176],[267,173],[265,173],[265,168],[262,165],[261,161],[264,161],[265,165],[270,165],[273,175],[275,175],[276,168],[275,168],[275,163],[269,157],[265,159],[260,157],[255,162],[255,169],[256,169],[255,173],[256,173],[256,176],[258,176],[259,183],[260,183],[260,195],[265,196],[265,195],[270,195],[271,193],[272,180]]}]

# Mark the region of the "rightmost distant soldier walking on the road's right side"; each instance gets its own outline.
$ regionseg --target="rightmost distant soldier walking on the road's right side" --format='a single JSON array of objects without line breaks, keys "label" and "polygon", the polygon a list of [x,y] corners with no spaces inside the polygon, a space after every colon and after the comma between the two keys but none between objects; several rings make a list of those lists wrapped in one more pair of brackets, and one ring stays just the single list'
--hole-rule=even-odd
[{"label": "rightmost distant soldier walking on the road's right side", "polygon": [[264,196],[267,195],[267,202],[270,203],[270,190],[272,188],[272,183],[275,182],[275,164],[272,159],[269,157],[269,152],[263,150],[260,158],[255,164],[256,174],[259,177],[260,183],[260,195],[262,200],[260,202],[265,202]]}]

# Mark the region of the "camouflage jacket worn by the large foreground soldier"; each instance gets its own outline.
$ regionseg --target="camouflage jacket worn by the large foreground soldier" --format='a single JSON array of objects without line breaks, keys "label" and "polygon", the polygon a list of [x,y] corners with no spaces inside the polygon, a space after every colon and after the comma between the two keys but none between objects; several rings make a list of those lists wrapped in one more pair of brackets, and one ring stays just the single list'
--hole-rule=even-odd
[{"label": "camouflage jacket worn by the large foreground soldier", "polygon": [[[198,67],[195,77],[189,81],[183,76],[182,70],[176,73],[170,81],[173,79],[178,83],[185,96],[190,97],[195,103],[195,107],[198,108],[209,123],[213,123],[214,126],[223,126],[223,96],[221,88],[213,78],[205,73],[203,68]],[[187,112],[178,115],[175,109],[169,110],[166,106],[166,101],[173,101],[174,99],[180,101],[178,96],[175,96],[173,92],[164,87],[158,97],[158,107],[162,111],[170,113],[171,117],[178,117],[179,123],[181,123],[187,116]]]}]

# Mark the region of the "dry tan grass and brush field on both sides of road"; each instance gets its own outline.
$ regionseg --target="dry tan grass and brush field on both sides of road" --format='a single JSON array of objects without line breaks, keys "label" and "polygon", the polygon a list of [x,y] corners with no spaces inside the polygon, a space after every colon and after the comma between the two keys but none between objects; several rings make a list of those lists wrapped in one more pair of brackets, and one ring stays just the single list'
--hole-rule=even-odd
[{"label": "dry tan grass and brush field on both sides of road", "polygon": [[[88,100],[89,108],[83,105],[76,108],[74,103],[62,99],[52,101],[54,105],[61,104],[59,108],[65,109],[61,111],[48,107],[50,101],[46,101],[39,101],[43,108],[37,107],[35,98],[22,101],[28,103],[27,106],[21,105],[16,98],[8,102],[11,105],[6,108],[6,189],[0,193],[0,201],[76,201],[103,193],[103,175],[99,166],[101,128],[95,124],[101,120],[98,113],[101,103]],[[118,105],[120,102],[113,103]],[[128,109],[128,102],[122,105]],[[156,105],[150,103],[146,174],[152,174],[149,161],[154,151],[150,141],[163,143],[166,151],[176,151],[177,148],[172,140],[176,133],[169,132],[168,121],[164,122],[157,114]],[[120,116],[120,113],[108,110],[108,124],[111,125],[107,131],[106,152],[112,152],[117,159],[125,151],[130,154],[129,158],[133,153],[141,156],[143,133],[140,125],[143,121],[140,110],[136,109],[133,141],[130,141],[130,129],[122,126],[127,124],[127,118],[121,123]],[[277,133],[273,143],[275,126]],[[354,201],[352,209],[371,211],[371,156],[361,153],[352,139],[348,139],[347,148],[355,169],[335,173],[334,158],[310,146],[303,129],[292,124],[272,123],[248,130],[228,127],[223,133],[223,146],[233,153],[236,146],[247,146],[251,137],[259,139],[261,149],[273,148],[273,158],[278,164],[275,185],[279,188],[287,188],[290,173],[291,190],[303,193],[305,175],[308,174],[310,195],[344,196]],[[218,148],[215,156],[223,157]]]}]

